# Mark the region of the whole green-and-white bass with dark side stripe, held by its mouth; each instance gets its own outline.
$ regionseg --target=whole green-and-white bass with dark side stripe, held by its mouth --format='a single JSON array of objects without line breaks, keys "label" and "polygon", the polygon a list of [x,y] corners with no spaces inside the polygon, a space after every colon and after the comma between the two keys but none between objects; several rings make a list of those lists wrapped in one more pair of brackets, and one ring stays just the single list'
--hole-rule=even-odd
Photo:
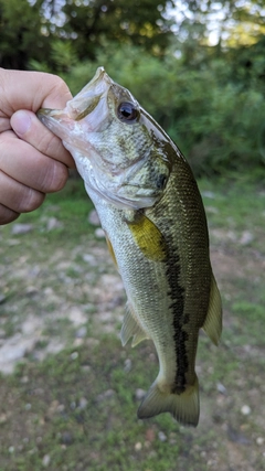
[{"label": "whole green-and-white bass with dark side stripe, held by its mouth", "polygon": [[188,161],[104,67],[64,109],[40,109],[38,117],[72,153],[98,213],[127,295],[123,345],[155,344],[159,373],[138,417],[171,413],[195,427],[199,332],[218,345],[222,301]]}]

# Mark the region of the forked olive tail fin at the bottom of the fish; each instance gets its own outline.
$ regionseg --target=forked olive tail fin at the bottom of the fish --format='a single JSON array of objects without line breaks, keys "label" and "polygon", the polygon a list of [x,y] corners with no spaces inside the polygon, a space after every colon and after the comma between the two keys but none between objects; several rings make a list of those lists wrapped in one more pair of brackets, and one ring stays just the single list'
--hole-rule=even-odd
[{"label": "forked olive tail fin at the bottom of the fish", "polygon": [[182,394],[162,393],[157,381],[151,385],[139,409],[140,419],[161,413],[171,413],[181,425],[197,427],[200,416],[199,383],[189,386]]}]

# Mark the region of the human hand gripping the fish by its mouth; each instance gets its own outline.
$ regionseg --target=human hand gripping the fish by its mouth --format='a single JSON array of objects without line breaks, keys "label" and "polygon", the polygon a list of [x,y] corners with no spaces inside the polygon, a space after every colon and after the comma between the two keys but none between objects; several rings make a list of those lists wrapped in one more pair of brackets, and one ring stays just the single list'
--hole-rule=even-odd
[{"label": "human hand gripping the fish by its mouth", "polygon": [[40,108],[64,108],[71,93],[57,76],[0,68],[0,225],[38,208],[61,190],[74,161],[43,126]]}]

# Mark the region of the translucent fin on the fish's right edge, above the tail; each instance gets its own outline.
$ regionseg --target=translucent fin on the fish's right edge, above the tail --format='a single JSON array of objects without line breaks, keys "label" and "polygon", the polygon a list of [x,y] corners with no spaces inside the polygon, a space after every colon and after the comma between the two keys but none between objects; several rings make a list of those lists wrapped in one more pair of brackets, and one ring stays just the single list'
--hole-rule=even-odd
[{"label": "translucent fin on the fish's right edge, above the tail", "polygon": [[222,301],[218,289],[216,281],[212,275],[211,292],[206,319],[203,324],[203,330],[211,339],[211,341],[218,345],[221,333],[222,333]]}]

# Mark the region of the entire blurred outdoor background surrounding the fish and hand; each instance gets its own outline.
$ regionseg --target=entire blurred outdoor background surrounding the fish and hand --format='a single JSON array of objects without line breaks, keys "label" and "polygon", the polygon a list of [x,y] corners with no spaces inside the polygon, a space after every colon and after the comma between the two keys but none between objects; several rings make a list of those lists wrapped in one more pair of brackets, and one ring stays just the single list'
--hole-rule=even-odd
[{"label": "entire blurred outdoor background surrounding the fish and hand", "polygon": [[198,179],[224,308],[200,335],[197,429],[138,420],[151,342],[121,347],[126,297],[83,182],[0,227],[0,471],[265,470],[265,1],[0,0],[0,66],[97,66]]}]

